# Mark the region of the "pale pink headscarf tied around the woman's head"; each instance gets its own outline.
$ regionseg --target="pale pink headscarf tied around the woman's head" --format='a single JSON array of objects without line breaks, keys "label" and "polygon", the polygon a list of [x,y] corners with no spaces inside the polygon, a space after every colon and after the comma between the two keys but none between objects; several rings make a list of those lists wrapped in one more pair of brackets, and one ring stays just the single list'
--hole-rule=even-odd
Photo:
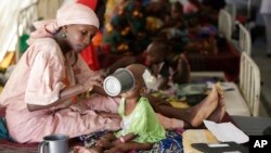
[{"label": "pale pink headscarf tied around the woman's head", "polygon": [[100,26],[95,13],[89,7],[68,3],[59,9],[55,20],[34,23],[36,30],[30,34],[27,43],[30,44],[37,38],[52,37],[60,27],[72,24]]}]

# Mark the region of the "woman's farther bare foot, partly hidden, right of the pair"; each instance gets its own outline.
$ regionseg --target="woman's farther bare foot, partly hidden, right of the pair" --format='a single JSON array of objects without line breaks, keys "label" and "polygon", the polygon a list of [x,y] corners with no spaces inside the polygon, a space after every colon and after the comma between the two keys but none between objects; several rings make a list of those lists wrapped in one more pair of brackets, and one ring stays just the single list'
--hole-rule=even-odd
[{"label": "woman's farther bare foot, partly hidden, right of the pair", "polygon": [[219,123],[222,120],[224,113],[225,113],[225,106],[224,106],[224,95],[223,95],[223,91],[220,87],[220,85],[216,85],[217,90],[218,90],[218,94],[219,94],[219,99],[218,99],[218,106],[217,109],[210,114],[210,116],[207,118],[208,120],[212,120],[216,123]]}]

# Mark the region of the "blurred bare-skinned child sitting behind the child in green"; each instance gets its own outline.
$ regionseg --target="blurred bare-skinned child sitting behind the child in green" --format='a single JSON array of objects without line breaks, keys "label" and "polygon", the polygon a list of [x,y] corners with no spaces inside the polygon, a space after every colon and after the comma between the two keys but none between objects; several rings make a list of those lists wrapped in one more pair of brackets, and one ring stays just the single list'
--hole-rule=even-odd
[{"label": "blurred bare-skinned child sitting behind the child in green", "polygon": [[145,64],[157,78],[156,90],[166,90],[171,84],[186,84],[190,80],[186,58],[172,53],[170,43],[165,39],[156,39],[147,47]]}]

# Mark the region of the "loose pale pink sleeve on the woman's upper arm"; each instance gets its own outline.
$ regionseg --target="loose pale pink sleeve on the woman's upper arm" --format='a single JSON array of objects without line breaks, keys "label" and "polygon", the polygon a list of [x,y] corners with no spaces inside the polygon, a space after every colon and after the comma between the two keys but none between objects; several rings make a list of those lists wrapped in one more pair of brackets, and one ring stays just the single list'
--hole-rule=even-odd
[{"label": "loose pale pink sleeve on the woman's upper arm", "polygon": [[65,68],[60,62],[59,48],[42,48],[36,54],[29,73],[25,93],[25,102],[29,104],[51,104],[59,100],[60,91],[65,87],[62,81]]}]

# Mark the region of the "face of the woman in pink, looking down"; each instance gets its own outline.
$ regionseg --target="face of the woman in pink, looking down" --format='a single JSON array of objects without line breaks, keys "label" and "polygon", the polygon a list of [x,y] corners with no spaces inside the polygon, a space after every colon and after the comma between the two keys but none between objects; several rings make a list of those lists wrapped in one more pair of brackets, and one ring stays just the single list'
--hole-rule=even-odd
[{"label": "face of the woman in pink, looking down", "polygon": [[98,28],[92,25],[68,25],[66,26],[67,42],[77,53],[81,52],[91,43]]}]

